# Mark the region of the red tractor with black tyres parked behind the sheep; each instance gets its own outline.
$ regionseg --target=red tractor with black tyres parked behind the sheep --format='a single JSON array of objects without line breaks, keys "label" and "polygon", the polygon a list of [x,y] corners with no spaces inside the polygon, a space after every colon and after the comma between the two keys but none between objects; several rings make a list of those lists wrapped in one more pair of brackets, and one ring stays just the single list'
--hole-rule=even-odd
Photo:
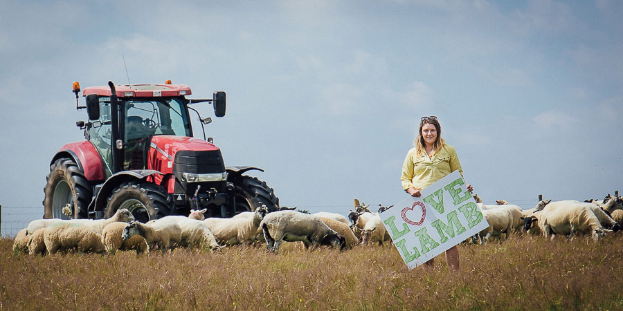
[{"label": "red tractor with black tyres parked behind the sheep", "polygon": [[[221,151],[193,138],[191,107],[211,102],[217,117],[225,115],[225,92],[213,99],[192,100],[190,88],[171,84],[132,84],[85,88],[89,121],[81,142],[65,144],[50,163],[44,188],[44,218],[109,218],[127,208],[143,223],[168,215],[207,209],[206,217],[231,217],[279,199],[266,182],[243,175],[257,167],[225,167]],[[205,139],[205,130],[204,130]]]}]

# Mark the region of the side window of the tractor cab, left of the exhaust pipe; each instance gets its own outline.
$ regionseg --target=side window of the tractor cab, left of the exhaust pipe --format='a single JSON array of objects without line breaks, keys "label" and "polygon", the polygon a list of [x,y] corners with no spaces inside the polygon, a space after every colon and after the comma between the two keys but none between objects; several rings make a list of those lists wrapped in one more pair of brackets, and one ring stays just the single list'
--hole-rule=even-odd
[{"label": "side window of the tractor cab, left of the exhaust pipe", "polygon": [[91,144],[98,149],[104,163],[105,178],[112,175],[112,154],[110,149],[111,140],[111,111],[110,97],[100,97],[100,119],[91,120],[87,123],[87,132]]}]

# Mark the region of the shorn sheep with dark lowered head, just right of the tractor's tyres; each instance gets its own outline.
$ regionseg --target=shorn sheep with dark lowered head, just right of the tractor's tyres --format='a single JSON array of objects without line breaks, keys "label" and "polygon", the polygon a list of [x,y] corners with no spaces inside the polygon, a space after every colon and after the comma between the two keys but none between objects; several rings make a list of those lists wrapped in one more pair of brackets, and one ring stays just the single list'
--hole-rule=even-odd
[{"label": "shorn sheep with dark lowered head, just right of the tractor's tyres", "polygon": [[302,241],[305,247],[332,245],[343,249],[346,240],[334,229],[323,223],[318,216],[298,211],[274,211],[262,219],[260,227],[264,230],[266,249],[277,253],[283,241]]}]

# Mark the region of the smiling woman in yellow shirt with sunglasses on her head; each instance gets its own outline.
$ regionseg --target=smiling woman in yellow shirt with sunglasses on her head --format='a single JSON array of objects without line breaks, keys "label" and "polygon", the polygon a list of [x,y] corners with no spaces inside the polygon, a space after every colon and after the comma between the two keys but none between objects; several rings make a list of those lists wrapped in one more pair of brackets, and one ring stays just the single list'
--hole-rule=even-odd
[{"label": "smiling woman in yellow shirt with sunglasses on her head", "polygon": [[[411,196],[422,196],[420,190],[458,170],[463,176],[461,163],[454,147],[446,144],[441,138],[441,126],[437,117],[422,117],[419,132],[415,139],[415,147],[407,153],[402,164],[402,189]],[[471,193],[473,188],[467,185]],[[458,249],[453,246],[446,251],[446,263],[450,270],[458,270]],[[433,259],[424,263],[431,267]]]}]

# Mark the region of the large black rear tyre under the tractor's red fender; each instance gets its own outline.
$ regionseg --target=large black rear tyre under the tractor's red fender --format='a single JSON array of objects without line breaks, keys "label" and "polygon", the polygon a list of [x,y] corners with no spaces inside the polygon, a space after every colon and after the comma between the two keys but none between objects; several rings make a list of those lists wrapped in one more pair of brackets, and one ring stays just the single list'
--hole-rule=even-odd
[{"label": "large black rear tyre under the tractor's red fender", "polygon": [[87,218],[93,190],[73,160],[60,158],[51,165],[44,193],[44,218]]}]

